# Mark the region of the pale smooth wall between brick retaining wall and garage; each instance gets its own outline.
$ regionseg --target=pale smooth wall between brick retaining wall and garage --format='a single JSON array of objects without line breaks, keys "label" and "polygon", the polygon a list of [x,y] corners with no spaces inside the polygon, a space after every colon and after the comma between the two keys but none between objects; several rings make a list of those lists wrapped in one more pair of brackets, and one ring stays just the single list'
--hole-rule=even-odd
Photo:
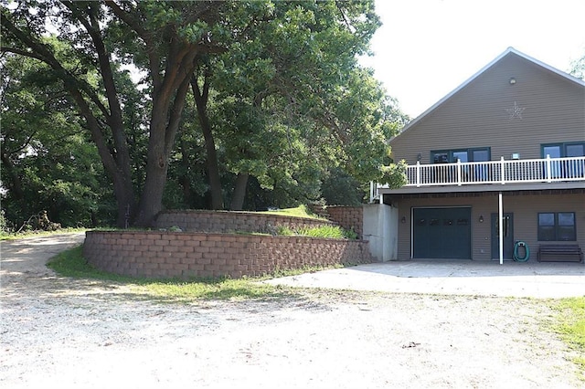
[{"label": "pale smooth wall between brick retaining wall and garage", "polygon": [[390,205],[364,205],[364,240],[379,262],[398,258],[399,211]]}]

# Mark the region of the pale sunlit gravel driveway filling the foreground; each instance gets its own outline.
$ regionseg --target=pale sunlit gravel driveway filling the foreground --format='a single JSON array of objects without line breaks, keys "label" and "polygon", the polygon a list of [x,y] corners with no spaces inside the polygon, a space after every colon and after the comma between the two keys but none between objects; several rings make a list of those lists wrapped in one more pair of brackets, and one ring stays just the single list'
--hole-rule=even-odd
[{"label": "pale sunlit gravel driveway filling the foreground", "polygon": [[3,388],[583,387],[542,300],[298,289],[161,303],[45,267],[81,235],[2,242]]}]

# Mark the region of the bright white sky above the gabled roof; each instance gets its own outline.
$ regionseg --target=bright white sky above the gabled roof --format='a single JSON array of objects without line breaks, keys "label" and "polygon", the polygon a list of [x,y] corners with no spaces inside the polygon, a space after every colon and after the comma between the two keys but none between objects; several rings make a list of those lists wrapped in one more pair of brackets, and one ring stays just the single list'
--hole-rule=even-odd
[{"label": "bright white sky above the gabled roof", "polygon": [[376,0],[375,69],[416,118],[507,47],[568,72],[585,56],[585,0]]}]

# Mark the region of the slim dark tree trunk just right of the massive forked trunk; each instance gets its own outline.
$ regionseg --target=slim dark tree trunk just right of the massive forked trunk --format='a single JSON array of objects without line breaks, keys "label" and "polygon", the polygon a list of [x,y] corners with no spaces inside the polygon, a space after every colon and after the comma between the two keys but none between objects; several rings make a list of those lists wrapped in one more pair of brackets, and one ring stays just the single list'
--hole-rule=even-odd
[{"label": "slim dark tree trunk just right of the massive forked trunk", "polygon": [[193,89],[193,96],[197,106],[197,118],[203,131],[205,138],[205,148],[207,152],[207,175],[209,176],[209,191],[211,193],[211,208],[224,209],[223,194],[221,191],[221,180],[219,179],[219,164],[218,152],[216,151],[216,143],[213,139],[213,132],[211,131],[211,124],[207,117],[207,96],[209,91],[209,83],[207,79],[203,85],[203,91],[199,89],[197,79],[191,79],[191,88]]}]

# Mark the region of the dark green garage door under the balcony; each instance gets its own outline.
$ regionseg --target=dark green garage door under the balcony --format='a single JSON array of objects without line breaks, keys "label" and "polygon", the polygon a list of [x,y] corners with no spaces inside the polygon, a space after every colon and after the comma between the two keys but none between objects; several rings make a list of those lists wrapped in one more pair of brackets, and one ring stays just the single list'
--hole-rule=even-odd
[{"label": "dark green garage door under the balcony", "polygon": [[471,259],[470,207],[414,208],[413,258]]}]

